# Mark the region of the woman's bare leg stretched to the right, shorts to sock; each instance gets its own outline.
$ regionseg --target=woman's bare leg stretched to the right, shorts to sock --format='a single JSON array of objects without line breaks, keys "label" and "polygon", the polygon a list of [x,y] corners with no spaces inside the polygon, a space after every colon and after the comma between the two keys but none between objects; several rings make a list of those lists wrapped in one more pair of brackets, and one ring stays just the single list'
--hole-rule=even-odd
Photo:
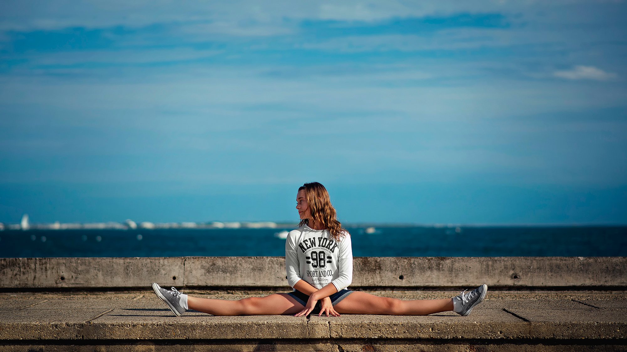
[{"label": "woman's bare leg stretched to the right, shorts to sock", "polygon": [[352,292],[334,306],[340,314],[428,315],[453,310],[453,299],[401,299]]}]

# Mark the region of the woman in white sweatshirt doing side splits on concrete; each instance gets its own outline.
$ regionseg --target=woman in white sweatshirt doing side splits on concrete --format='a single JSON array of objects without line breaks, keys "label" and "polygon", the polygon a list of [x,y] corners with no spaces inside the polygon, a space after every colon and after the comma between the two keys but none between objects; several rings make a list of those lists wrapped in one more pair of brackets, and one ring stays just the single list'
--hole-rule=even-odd
[{"label": "woman in white sweatshirt doing side splits on concrete", "polygon": [[187,309],[219,316],[428,315],[445,311],[467,316],[485,298],[486,284],[450,299],[413,301],[350,291],[347,289],[352,281],[350,234],[337,220],[327,189],[318,182],[304,184],[298,189],[296,209],[300,224],[288,234],[285,242],[285,269],[293,292],[227,301],[187,296],[174,287],[167,290],[156,283],[152,284],[152,289],[176,316]]}]

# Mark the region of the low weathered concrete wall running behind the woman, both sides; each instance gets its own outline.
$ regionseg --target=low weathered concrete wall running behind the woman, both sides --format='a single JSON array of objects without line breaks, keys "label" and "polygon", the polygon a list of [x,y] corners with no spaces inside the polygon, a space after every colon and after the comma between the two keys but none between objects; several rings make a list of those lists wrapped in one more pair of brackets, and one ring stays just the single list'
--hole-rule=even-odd
[{"label": "low weathered concrete wall running behind the woman, both sides", "polygon": [[[1,289],[288,287],[283,257],[0,258]],[[350,287],[623,287],[627,257],[355,257]]]}]

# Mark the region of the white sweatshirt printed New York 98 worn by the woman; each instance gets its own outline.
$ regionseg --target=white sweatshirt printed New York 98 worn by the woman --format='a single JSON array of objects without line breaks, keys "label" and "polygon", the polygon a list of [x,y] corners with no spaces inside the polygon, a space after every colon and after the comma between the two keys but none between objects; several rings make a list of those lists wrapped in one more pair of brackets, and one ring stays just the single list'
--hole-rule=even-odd
[{"label": "white sweatshirt printed New York 98 worn by the woman", "polygon": [[329,230],[314,230],[307,225],[292,230],[285,241],[285,270],[291,287],[305,280],[317,289],[329,282],[340,291],[352,282],[350,234],[336,242]]}]

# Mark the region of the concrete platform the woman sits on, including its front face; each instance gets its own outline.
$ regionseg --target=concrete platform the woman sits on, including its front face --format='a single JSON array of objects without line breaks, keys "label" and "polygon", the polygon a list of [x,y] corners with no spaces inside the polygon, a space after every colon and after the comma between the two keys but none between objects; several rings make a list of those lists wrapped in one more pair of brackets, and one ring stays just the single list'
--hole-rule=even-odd
[{"label": "concrete platform the woman sits on, including its front face", "polygon": [[[399,299],[457,291],[369,291]],[[268,292],[186,291],[241,299]],[[597,308],[599,307],[599,308]],[[45,343],[44,341],[48,341]],[[175,347],[176,346],[176,347]],[[488,291],[470,316],[350,315],[175,317],[152,291],[5,292],[6,351],[621,351],[627,292]]]}]

